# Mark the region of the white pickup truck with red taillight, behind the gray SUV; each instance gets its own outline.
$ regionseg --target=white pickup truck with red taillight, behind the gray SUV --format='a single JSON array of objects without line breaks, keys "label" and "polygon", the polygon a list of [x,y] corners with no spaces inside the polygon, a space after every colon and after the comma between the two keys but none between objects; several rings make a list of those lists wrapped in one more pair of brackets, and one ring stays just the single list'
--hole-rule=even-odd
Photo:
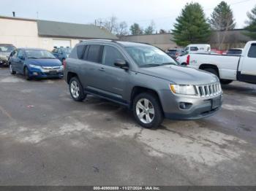
[{"label": "white pickup truck with red taillight, behind the gray SUV", "polygon": [[195,53],[181,55],[177,61],[216,74],[222,84],[233,80],[256,84],[256,41],[247,42],[241,56]]}]

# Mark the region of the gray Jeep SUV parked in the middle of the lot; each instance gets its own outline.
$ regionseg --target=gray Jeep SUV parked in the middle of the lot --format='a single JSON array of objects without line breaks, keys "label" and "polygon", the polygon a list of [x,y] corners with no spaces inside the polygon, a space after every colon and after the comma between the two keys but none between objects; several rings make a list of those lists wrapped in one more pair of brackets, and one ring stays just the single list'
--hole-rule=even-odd
[{"label": "gray Jeep SUV parked in the middle of the lot", "polygon": [[156,128],[164,117],[208,117],[222,105],[217,76],[178,66],[165,52],[148,44],[80,42],[64,63],[64,79],[75,101],[91,94],[127,106],[145,128]]}]

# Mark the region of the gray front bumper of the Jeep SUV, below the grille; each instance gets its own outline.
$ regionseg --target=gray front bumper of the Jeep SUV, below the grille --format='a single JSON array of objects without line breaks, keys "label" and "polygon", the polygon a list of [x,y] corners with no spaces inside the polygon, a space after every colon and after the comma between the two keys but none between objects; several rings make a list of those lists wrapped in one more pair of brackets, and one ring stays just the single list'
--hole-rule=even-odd
[{"label": "gray front bumper of the Jeep SUV, below the grille", "polygon": [[[170,97],[171,96],[171,97]],[[213,107],[213,100],[219,98],[219,106]],[[161,101],[165,117],[170,120],[197,120],[215,114],[222,107],[222,93],[208,98],[164,93]],[[187,109],[181,109],[181,103],[189,103]]]}]

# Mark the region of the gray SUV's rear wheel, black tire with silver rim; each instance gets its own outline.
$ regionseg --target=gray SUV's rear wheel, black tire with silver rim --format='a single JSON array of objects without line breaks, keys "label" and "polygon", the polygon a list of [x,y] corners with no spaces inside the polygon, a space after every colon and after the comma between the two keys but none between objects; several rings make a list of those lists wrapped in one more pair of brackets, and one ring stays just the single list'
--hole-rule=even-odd
[{"label": "gray SUV's rear wheel, black tire with silver rim", "polygon": [[83,86],[77,77],[72,77],[72,79],[70,79],[69,92],[75,101],[83,101],[86,98],[86,94],[83,92]]}]

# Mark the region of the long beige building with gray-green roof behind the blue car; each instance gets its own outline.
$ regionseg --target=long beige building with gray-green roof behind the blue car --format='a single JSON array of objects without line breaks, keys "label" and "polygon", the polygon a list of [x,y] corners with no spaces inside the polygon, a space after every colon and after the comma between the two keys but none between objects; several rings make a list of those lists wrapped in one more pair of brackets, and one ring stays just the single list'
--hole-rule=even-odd
[{"label": "long beige building with gray-green roof behind the blue car", "polygon": [[0,16],[0,44],[15,47],[74,47],[83,39],[118,39],[94,25]]}]

